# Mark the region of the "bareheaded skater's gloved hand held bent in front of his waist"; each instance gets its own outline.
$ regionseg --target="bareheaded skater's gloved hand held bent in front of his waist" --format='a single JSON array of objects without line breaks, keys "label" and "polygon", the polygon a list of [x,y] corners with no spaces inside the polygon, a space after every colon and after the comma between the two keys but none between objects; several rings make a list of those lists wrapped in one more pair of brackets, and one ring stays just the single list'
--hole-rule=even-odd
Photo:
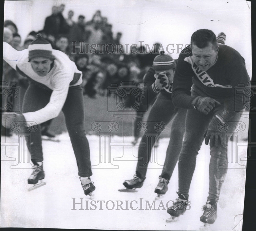
[{"label": "bareheaded skater's gloved hand held bent in front of his waist", "polygon": [[193,107],[199,111],[204,113],[205,115],[208,115],[208,113],[216,106],[220,105],[221,103],[217,100],[210,98],[210,97],[201,97],[197,96],[193,101],[192,105]]}]

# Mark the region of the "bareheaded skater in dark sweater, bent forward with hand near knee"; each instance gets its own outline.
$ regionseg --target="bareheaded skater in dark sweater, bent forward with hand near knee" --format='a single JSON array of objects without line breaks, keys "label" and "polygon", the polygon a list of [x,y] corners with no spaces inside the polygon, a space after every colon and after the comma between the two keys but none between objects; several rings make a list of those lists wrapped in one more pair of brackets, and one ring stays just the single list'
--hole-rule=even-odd
[{"label": "bareheaded skater in dark sweater, bent forward with hand near knee", "polygon": [[[234,89],[237,84],[243,88],[239,94]],[[190,203],[190,183],[196,157],[205,138],[211,155],[209,195],[206,205],[202,207],[204,213],[200,221],[205,223],[205,227],[215,222],[220,189],[227,173],[226,128],[228,132],[233,132],[240,120],[246,104],[243,94],[248,91],[248,86],[250,91],[244,58],[236,50],[217,44],[215,34],[208,29],[193,33],[191,44],[179,55],[173,81],[173,104],[188,109],[188,112],[178,163],[178,199],[167,209],[170,219],[184,214]]]}]

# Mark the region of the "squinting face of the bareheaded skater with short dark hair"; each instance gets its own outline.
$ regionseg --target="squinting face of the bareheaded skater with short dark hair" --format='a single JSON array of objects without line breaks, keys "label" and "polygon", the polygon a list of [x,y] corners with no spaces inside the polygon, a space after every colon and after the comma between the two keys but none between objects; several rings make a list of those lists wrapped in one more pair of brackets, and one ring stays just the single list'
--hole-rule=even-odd
[{"label": "squinting face of the bareheaded skater with short dark hair", "polygon": [[195,44],[192,44],[191,48],[193,54],[192,59],[200,70],[207,71],[215,64],[218,57],[219,46],[215,48],[209,43],[208,46],[199,48]]}]

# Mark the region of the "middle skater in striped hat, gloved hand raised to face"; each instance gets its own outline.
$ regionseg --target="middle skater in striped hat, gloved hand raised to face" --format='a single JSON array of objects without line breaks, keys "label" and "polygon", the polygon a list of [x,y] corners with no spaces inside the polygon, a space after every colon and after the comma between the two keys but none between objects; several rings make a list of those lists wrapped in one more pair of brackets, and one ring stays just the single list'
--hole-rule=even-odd
[{"label": "middle skater in striped hat, gloved hand raised to face", "polygon": [[[159,176],[159,183],[155,188],[155,193],[158,194],[156,198],[165,194],[168,190],[167,185],[177,163],[182,146],[182,137],[185,132],[184,123],[187,110],[181,108],[175,109],[172,103],[172,82],[175,67],[175,60],[170,55],[162,52],[155,57],[153,66],[143,78],[144,87],[147,87],[148,91],[148,100],[147,97],[144,97],[145,101],[142,100],[142,103],[150,103],[157,97],[146,122],[148,126],[147,132],[154,132],[155,122],[157,121],[161,121],[164,125],[167,125],[173,120],[164,167],[162,174]],[[159,137],[161,131],[157,133]],[[138,162],[134,178],[125,180],[123,185],[126,189],[120,189],[120,191],[131,191],[134,190],[134,188],[142,187],[146,178],[147,166],[150,161],[153,146],[154,140],[147,139],[144,133],[138,148]]]}]

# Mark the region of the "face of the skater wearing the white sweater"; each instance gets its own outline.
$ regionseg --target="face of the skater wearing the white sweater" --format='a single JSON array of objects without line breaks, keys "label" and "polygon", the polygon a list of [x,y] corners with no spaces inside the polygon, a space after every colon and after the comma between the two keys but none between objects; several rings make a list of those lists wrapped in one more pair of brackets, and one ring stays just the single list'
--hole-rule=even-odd
[{"label": "face of the skater wearing the white sweater", "polygon": [[44,57],[36,57],[30,60],[32,69],[39,76],[46,76],[51,69],[53,60]]}]

